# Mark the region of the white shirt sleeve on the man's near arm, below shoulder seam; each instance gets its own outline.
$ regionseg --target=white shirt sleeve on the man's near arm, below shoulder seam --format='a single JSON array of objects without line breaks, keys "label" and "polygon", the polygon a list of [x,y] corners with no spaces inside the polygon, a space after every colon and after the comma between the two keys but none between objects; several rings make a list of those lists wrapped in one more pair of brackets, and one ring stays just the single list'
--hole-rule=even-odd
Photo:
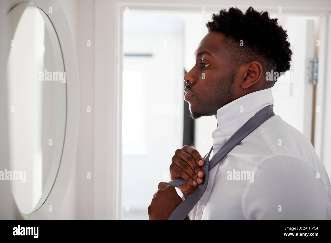
[{"label": "white shirt sleeve on the man's near arm, below shoulder seam", "polygon": [[327,220],[330,190],[317,172],[327,176],[325,170],[315,171],[307,162],[290,156],[259,163],[254,182],[248,182],[242,198],[246,219]]}]

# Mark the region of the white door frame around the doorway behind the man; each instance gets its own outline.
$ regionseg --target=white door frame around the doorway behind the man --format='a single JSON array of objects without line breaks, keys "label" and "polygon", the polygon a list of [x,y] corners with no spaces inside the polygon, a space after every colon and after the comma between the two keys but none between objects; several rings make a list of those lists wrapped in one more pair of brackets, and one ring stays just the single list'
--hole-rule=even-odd
[{"label": "white door frame around the doorway behind the man", "polygon": [[[95,2],[94,174],[101,175],[94,185],[95,219],[120,220],[123,210],[121,207],[123,12],[130,10],[201,12],[204,7],[206,12],[211,10],[217,13],[220,9],[229,8],[233,4],[230,0],[221,3],[214,0],[205,0],[203,3],[200,0],[95,0]],[[317,88],[316,105],[331,104],[331,84],[325,82],[331,80],[331,70],[326,68],[331,66],[331,42],[327,41],[331,40],[329,1],[279,0],[275,5],[271,1],[261,3],[260,0],[251,0],[250,5],[258,11],[267,9],[270,14],[277,13],[278,7],[281,7],[284,15],[321,17],[324,43],[321,44],[319,55],[322,52],[325,55],[322,55],[324,65],[319,66],[323,73],[319,73],[319,77],[323,81],[319,81],[321,85]],[[243,9],[249,7],[245,0],[236,1],[236,6]],[[108,97],[107,102],[103,97]],[[331,161],[331,150],[325,147],[326,138],[331,137],[331,127],[328,128],[324,122],[325,119],[331,121],[331,110],[327,110],[324,106],[321,108],[323,116],[317,118],[315,122],[316,151],[323,161]],[[322,134],[324,137],[321,137]],[[105,166],[107,170],[104,169]],[[326,167],[330,172],[331,165]],[[101,190],[104,185],[107,185],[106,194]],[[106,216],[104,212],[107,212]]]}]

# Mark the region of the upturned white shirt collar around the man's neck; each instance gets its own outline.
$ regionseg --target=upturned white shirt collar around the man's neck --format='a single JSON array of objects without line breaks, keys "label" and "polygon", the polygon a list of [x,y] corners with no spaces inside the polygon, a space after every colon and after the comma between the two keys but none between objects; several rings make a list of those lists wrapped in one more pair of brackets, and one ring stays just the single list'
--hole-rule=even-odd
[{"label": "upturned white shirt collar around the man's neck", "polygon": [[273,104],[273,102],[271,88],[268,88],[244,95],[227,103],[217,110],[218,128],[213,132],[213,135],[216,134],[216,131],[217,134],[222,131],[221,133],[225,135],[227,131],[238,130],[243,125],[240,121],[245,120],[246,122],[260,109]]}]

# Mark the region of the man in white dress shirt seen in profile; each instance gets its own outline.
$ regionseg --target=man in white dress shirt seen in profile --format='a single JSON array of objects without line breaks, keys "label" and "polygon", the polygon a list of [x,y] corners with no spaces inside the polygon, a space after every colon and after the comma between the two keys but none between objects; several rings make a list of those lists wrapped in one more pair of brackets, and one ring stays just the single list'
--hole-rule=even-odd
[{"label": "man in white dress shirt seen in profile", "polygon": [[[212,158],[254,114],[273,104],[268,72],[290,69],[286,31],[267,12],[250,7],[221,10],[195,51],[196,64],[184,75],[184,100],[191,117],[215,115]],[[300,82],[300,80],[298,80]],[[203,182],[201,154],[189,146],[175,151],[171,180],[159,184],[148,208],[150,220],[167,220]],[[186,220],[331,219],[330,182],[311,143],[279,115],[266,120],[211,171],[206,191]]]}]

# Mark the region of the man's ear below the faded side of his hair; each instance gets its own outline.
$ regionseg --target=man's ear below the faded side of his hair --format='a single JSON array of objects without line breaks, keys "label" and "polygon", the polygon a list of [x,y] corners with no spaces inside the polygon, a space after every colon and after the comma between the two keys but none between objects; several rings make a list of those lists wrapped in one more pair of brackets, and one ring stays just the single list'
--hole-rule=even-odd
[{"label": "man's ear below the faded side of his hair", "polygon": [[258,61],[251,61],[242,67],[244,70],[244,79],[240,83],[240,87],[247,89],[258,82],[262,76],[262,65]]}]

